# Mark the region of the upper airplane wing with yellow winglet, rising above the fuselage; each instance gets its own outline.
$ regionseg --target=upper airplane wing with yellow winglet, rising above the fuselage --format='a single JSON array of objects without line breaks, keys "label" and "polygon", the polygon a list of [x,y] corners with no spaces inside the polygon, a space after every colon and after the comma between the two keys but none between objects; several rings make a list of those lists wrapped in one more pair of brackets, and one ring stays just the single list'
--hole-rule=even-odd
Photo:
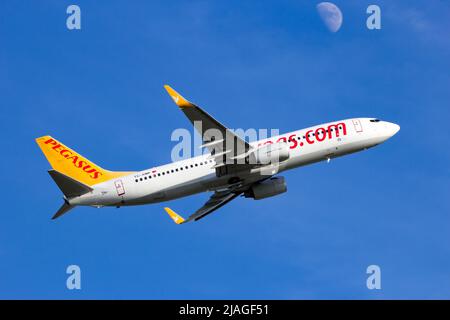
[{"label": "upper airplane wing with yellow winglet, rising above the fuselage", "polygon": [[[219,176],[250,167],[244,161],[245,156],[252,149],[250,144],[235,135],[199,106],[186,100],[170,86],[165,85],[164,88],[201,135],[202,147],[207,148],[211,153],[211,158],[215,159],[216,169],[218,170],[216,171]],[[239,159],[241,161],[238,163],[237,160]]]}]

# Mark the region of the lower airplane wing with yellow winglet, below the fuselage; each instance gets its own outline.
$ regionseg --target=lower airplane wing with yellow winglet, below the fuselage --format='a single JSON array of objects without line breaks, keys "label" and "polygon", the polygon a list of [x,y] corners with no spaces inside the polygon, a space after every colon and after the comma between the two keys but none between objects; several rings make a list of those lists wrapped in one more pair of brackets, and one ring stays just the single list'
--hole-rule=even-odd
[{"label": "lower airplane wing with yellow winglet, below the fuselage", "polygon": [[232,192],[230,190],[216,191],[213,193],[211,198],[209,198],[209,200],[203,205],[203,207],[195,211],[195,213],[190,215],[187,219],[184,219],[182,216],[178,215],[175,211],[168,207],[164,208],[164,210],[166,210],[166,212],[176,224],[182,224],[192,220],[197,221],[204,218],[213,211],[219,209],[223,205],[227,204],[240,194],[241,192]]}]

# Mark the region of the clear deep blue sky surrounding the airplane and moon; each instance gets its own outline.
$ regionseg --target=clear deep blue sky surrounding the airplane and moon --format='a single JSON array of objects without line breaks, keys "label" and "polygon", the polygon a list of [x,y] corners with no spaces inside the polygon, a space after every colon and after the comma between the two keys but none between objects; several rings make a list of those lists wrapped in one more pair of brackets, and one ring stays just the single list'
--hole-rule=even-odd
[{"label": "clear deep blue sky surrounding the airplane and moon", "polygon": [[[450,298],[450,5],[335,1],[330,33],[318,2],[1,2],[0,298]],[[80,31],[65,25],[72,3]],[[61,193],[34,138],[111,170],[169,162],[172,131],[191,128],[166,83],[231,128],[374,116],[401,131],[198,223],[173,224],[164,204],[51,221]],[[188,215],[207,197],[170,205]],[[70,264],[80,291],[66,289]]]}]

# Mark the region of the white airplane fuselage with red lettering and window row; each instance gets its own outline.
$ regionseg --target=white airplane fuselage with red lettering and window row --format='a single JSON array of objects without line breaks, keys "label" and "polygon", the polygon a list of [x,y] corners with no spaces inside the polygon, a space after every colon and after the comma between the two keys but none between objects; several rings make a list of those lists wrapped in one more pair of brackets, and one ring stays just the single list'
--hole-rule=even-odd
[{"label": "white airplane fuselage with red lettering and window row", "polygon": [[[289,159],[277,166],[277,172],[281,172],[376,146],[399,129],[390,122],[355,118],[289,132],[250,145],[287,142]],[[209,154],[181,160],[97,184],[92,192],[69,202],[99,207],[140,205],[224,189],[229,186],[231,176],[217,177],[214,166]],[[256,182],[262,179],[261,174],[261,169],[254,169],[239,179],[245,183]]]}]

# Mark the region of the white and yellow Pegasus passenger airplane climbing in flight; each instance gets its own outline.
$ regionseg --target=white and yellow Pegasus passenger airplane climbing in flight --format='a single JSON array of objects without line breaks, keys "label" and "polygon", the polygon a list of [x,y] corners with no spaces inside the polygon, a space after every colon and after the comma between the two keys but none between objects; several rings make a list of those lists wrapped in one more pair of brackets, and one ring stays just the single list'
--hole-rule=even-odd
[{"label": "white and yellow Pegasus passenger airplane climbing in flight", "polygon": [[48,172],[64,194],[52,219],[76,206],[144,205],[212,192],[186,219],[164,208],[176,224],[198,221],[238,196],[260,200],[286,192],[280,172],[366,150],[400,130],[377,118],[352,118],[247,142],[170,86],[164,87],[201,135],[207,152],[142,171],[109,171],[51,136],[39,137],[36,142],[52,167]]}]

